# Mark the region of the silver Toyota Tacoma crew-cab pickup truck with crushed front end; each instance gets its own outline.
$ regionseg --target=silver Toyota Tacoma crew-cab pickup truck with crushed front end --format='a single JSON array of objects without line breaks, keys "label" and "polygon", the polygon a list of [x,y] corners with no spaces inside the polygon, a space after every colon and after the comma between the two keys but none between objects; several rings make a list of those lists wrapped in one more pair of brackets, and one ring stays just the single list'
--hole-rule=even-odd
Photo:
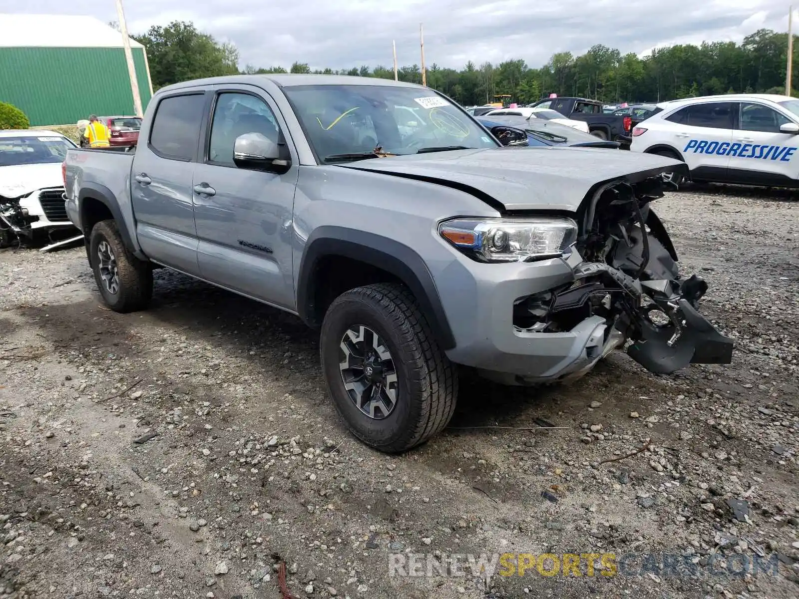
[{"label": "silver Toyota Tacoma crew-cab pickup truck with crushed front end", "polygon": [[168,267],[319,327],[338,411],[384,451],[447,425],[460,367],[552,382],[624,346],[658,373],[729,363],[650,208],[682,163],[494,133],[396,81],[187,81],[135,153],[70,150],[66,208],[113,310]]}]

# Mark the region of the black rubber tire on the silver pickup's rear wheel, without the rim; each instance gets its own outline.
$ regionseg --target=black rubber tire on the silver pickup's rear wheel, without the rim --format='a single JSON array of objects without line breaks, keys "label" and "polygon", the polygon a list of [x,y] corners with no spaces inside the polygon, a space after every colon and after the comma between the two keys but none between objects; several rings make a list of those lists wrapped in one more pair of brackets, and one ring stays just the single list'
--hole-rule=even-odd
[{"label": "black rubber tire on the silver pickup's rear wheel, without the rim", "polygon": [[[116,259],[119,284],[116,293],[110,293],[101,278],[97,248],[103,241],[109,244]],[[101,220],[92,228],[89,236],[89,264],[103,302],[113,311],[134,312],[144,310],[149,305],[153,297],[153,268],[125,248],[116,221]]]}]

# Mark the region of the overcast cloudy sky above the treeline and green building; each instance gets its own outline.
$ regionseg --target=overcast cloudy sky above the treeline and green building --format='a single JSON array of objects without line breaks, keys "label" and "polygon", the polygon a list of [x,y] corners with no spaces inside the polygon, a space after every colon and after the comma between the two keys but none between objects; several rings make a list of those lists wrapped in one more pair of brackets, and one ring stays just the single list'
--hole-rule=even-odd
[{"label": "overcast cloudy sky above the treeline and green building", "polygon": [[[523,58],[540,66],[551,54],[582,54],[594,44],[644,54],[655,46],[703,40],[741,42],[767,27],[787,30],[787,0],[124,0],[128,29],[192,21],[233,42],[241,65],[308,62],[312,68],[419,62],[424,23],[427,65],[460,68]],[[645,8],[644,8],[645,7]],[[34,10],[35,9],[35,10]],[[114,0],[0,0],[0,13],[90,14],[117,20]],[[799,20],[794,24],[799,30]]]}]

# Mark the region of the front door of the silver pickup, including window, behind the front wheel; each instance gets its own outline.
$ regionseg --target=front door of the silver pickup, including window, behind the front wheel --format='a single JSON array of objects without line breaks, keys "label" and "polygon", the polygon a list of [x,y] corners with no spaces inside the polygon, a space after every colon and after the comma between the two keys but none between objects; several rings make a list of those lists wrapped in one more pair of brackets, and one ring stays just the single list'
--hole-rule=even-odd
[{"label": "front door of the silver pickup, including window, behind the front wheel", "polygon": [[194,169],[194,218],[201,276],[237,292],[294,310],[292,211],[299,173],[290,141],[287,173],[239,169],[233,144],[244,133],[277,141],[280,112],[263,91],[215,91],[208,142]]}]

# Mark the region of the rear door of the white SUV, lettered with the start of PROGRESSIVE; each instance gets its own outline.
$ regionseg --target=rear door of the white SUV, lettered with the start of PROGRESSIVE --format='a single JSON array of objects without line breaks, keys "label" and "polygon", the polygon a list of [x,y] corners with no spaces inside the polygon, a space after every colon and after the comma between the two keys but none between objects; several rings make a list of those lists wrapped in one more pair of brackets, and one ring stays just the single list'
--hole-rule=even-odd
[{"label": "rear door of the white SUV, lettered with the start of PROGRESSIVE", "polygon": [[733,102],[702,102],[664,119],[662,141],[677,148],[694,179],[726,180],[733,139]]}]

